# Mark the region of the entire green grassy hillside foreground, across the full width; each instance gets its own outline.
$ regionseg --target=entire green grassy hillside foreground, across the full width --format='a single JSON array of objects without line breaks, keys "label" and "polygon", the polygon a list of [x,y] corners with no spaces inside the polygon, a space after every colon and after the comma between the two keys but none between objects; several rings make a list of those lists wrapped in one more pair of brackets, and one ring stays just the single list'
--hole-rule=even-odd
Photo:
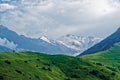
[{"label": "entire green grassy hillside foreground, across the full width", "polygon": [[0,80],[120,80],[120,44],[81,58],[0,53]]}]

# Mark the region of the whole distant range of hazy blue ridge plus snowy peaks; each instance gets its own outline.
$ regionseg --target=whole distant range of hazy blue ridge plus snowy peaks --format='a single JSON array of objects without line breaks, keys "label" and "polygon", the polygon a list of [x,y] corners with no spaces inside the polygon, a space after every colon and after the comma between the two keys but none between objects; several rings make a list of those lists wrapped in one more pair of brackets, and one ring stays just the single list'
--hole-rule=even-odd
[{"label": "whole distant range of hazy blue ridge plus snowy peaks", "polygon": [[98,43],[100,40],[101,38],[75,36],[70,34],[62,36],[57,40],[48,39],[46,36],[41,36],[38,39],[28,38],[24,35],[18,35],[16,32],[0,25],[0,45],[5,48],[1,48],[3,49],[3,52],[16,50],[35,51],[48,54],[76,55]]}]

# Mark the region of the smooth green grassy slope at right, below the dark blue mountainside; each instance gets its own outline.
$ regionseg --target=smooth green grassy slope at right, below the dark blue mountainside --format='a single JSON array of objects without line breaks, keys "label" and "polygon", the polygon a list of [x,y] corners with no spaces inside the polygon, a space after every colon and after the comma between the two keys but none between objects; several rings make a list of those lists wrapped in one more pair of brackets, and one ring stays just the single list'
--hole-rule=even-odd
[{"label": "smooth green grassy slope at right, below the dark blue mountainside", "polygon": [[108,75],[111,80],[120,80],[120,43],[109,50],[82,56],[81,59],[107,68],[106,70],[112,72],[112,76]]}]

